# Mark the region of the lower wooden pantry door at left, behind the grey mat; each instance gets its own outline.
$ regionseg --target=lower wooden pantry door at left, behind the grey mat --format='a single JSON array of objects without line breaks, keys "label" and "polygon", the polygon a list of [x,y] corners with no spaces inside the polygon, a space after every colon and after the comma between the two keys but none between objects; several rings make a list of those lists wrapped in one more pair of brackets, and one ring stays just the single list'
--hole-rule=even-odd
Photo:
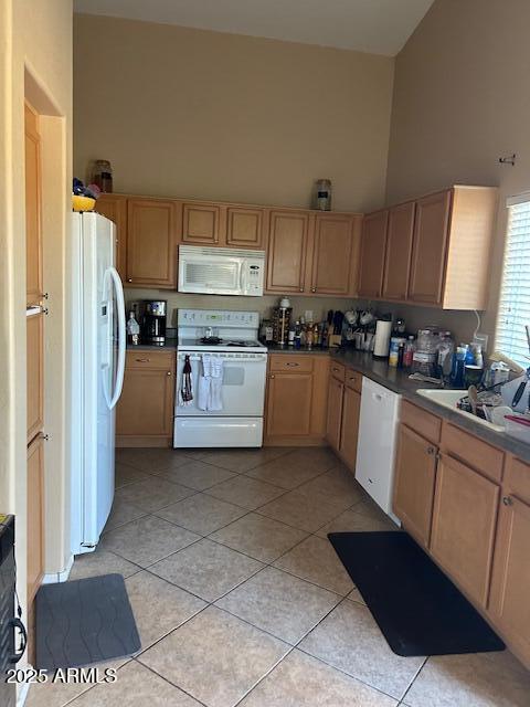
[{"label": "lower wooden pantry door at left, behind the grey mat", "polygon": [[28,604],[33,602],[44,574],[44,440],[28,447]]}]

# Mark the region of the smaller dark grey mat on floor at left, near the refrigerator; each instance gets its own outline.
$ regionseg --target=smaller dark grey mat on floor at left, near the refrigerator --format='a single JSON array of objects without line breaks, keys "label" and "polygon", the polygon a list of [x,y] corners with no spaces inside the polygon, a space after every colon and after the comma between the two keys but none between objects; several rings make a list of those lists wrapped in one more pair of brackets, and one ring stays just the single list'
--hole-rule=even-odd
[{"label": "smaller dark grey mat on floor at left, near the refrigerator", "polygon": [[132,655],[140,637],[121,574],[43,584],[35,600],[38,669]]}]

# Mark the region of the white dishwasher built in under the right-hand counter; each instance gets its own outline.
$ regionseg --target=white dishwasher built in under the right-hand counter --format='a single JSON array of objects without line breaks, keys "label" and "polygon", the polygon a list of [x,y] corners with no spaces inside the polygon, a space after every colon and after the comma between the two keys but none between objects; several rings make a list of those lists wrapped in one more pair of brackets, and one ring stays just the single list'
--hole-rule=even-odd
[{"label": "white dishwasher built in under the right-hand counter", "polygon": [[401,395],[362,378],[356,478],[392,520],[394,461]]}]

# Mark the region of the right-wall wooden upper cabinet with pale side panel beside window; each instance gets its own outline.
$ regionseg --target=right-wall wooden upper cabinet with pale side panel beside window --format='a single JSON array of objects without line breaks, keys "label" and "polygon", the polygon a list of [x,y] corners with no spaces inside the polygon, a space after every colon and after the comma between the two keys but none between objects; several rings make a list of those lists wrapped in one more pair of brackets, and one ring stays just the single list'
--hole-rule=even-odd
[{"label": "right-wall wooden upper cabinet with pale side panel beside window", "polygon": [[457,186],[367,215],[359,295],[484,309],[497,193]]}]

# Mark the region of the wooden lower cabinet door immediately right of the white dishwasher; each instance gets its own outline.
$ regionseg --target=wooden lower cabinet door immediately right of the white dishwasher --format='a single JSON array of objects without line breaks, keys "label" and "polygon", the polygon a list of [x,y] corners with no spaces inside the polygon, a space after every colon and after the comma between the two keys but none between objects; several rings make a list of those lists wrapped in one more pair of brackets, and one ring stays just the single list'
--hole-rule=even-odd
[{"label": "wooden lower cabinet door immediately right of the white dishwasher", "polygon": [[393,510],[406,530],[428,547],[436,482],[437,447],[400,425]]}]

